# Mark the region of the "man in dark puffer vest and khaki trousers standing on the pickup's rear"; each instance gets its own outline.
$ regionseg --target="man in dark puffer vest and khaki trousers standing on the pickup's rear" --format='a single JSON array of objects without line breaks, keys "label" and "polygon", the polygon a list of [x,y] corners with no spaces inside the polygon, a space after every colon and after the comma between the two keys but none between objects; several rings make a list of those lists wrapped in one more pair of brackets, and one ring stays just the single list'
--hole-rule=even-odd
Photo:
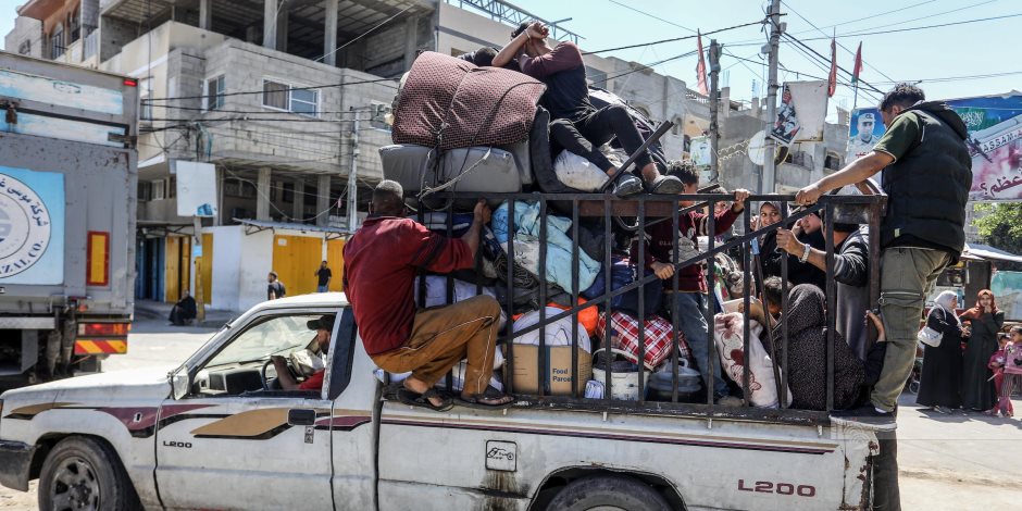
[{"label": "man in dark puffer vest and khaki trousers standing on the pickup's rear", "polygon": [[972,187],[965,123],[946,103],[925,99],[919,87],[895,86],[880,104],[887,133],[873,150],[796,196],[798,203],[812,204],[822,194],[884,171],[888,202],[881,223],[880,303],[887,354],[871,402],[832,413],[834,423],[896,428],[895,406],[912,372],[925,297],[965,244],[965,202]]}]

